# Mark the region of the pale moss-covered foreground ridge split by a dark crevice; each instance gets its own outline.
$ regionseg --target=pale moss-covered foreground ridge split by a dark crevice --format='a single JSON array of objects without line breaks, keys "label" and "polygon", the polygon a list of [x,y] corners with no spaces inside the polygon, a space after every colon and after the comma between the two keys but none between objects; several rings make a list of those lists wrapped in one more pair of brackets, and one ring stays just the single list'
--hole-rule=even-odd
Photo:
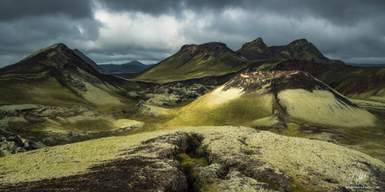
[{"label": "pale moss-covered foreground ridge split by a dark crevice", "polygon": [[[366,154],[333,143],[231,126],[185,127],[48,147],[2,157],[0,166],[0,188],[11,191],[385,187],[385,164]],[[352,173],[365,176],[355,183]]]}]

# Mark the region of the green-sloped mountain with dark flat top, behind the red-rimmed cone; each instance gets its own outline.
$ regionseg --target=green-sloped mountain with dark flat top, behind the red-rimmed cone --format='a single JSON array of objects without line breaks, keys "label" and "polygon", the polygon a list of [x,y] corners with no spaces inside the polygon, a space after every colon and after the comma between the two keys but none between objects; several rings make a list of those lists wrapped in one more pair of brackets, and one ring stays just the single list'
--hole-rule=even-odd
[{"label": "green-sloped mountain with dark flat top, behind the red-rimmed cone", "polygon": [[223,75],[246,67],[245,59],[222,42],[183,45],[178,52],[140,72],[134,79],[168,82]]}]

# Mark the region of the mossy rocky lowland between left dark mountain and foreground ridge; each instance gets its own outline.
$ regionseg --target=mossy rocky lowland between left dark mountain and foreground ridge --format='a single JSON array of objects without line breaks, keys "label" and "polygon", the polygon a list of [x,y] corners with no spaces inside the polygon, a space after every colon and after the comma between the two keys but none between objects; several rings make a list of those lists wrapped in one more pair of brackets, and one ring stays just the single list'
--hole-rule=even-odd
[{"label": "mossy rocky lowland between left dark mountain and foreground ridge", "polygon": [[0,156],[36,148],[127,133],[143,122],[116,119],[83,106],[0,106]]}]

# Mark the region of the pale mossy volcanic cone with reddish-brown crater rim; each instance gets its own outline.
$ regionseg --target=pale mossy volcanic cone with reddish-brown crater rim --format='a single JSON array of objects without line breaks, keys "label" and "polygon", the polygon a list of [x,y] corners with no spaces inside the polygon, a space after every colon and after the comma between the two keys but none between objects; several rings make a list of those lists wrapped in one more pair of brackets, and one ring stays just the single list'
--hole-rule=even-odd
[{"label": "pale mossy volcanic cone with reddish-brown crater rim", "polygon": [[239,73],[181,109],[171,124],[189,125],[287,121],[319,126],[374,126],[368,111],[303,71]]}]

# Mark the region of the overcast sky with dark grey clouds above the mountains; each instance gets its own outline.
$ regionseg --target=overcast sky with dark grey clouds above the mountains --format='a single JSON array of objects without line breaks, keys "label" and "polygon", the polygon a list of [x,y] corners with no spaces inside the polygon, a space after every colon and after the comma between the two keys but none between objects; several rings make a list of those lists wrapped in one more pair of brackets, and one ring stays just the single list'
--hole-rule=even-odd
[{"label": "overcast sky with dark grey clouds above the mountains", "polygon": [[183,44],[233,50],[306,38],[327,57],[385,63],[385,0],[0,0],[0,67],[63,42],[97,63],[155,63]]}]

